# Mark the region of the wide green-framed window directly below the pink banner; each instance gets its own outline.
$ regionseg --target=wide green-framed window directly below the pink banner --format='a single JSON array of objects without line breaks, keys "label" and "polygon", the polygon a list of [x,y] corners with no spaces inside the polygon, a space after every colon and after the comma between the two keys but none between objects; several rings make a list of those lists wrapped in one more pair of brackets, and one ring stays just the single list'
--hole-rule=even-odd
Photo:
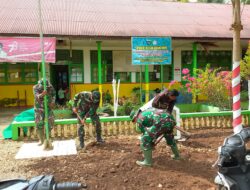
[{"label": "wide green-framed window directly below the pink banner", "polygon": [[34,84],[38,81],[38,63],[0,64],[0,83]]}]

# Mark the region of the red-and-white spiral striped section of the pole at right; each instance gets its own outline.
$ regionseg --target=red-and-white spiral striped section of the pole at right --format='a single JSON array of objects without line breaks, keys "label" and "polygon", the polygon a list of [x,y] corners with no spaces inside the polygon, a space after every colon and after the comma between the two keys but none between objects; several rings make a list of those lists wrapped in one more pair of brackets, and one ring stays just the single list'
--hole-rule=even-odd
[{"label": "red-and-white spiral striped section of the pole at right", "polygon": [[242,129],[242,116],[240,106],[240,62],[233,63],[232,75],[232,92],[233,92],[233,128],[234,133]]}]

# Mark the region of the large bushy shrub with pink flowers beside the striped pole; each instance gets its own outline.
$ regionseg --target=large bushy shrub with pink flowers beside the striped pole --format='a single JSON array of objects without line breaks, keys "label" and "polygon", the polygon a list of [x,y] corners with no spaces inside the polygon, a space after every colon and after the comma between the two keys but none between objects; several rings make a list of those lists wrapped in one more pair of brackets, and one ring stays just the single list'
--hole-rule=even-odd
[{"label": "large bushy shrub with pink flowers beside the striped pole", "polygon": [[[220,68],[211,69],[210,65],[207,65],[205,69],[196,70],[197,77],[191,77],[186,68],[182,73],[184,84],[180,87],[181,93],[192,93],[193,97],[202,94],[207,97],[209,104],[222,109],[231,109],[231,72],[221,71]],[[174,83],[176,82],[172,85]]]}]

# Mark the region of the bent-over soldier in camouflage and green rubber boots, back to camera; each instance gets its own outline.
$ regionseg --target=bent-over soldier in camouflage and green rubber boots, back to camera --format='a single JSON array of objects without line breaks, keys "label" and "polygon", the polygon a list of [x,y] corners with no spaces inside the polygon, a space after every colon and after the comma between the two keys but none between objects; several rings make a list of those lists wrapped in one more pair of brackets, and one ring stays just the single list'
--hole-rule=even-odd
[{"label": "bent-over soldier in camouflage and green rubber boots, back to camera", "polygon": [[140,112],[137,117],[135,117],[135,112],[133,111],[130,117],[133,122],[138,124],[137,131],[142,133],[140,146],[144,153],[144,161],[136,161],[138,165],[152,166],[152,149],[156,140],[162,135],[174,153],[173,159],[180,158],[173,134],[176,122],[171,114],[166,110],[149,108]]}]

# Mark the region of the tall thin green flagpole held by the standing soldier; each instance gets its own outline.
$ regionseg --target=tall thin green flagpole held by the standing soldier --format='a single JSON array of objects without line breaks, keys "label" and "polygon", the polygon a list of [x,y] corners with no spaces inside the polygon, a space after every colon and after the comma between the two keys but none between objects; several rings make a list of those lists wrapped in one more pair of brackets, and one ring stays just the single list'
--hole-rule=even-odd
[{"label": "tall thin green flagpole held by the standing soldier", "polygon": [[[46,84],[46,67],[44,58],[44,40],[43,40],[43,23],[42,23],[42,11],[41,11],[41,0],[38,0],[38,10],[39,10],[39,27],[40,27],[40,44],[41,44],[41,54],[42,54],[42,77],[43,77],[43,88],[47,89]],[[45,131],[46,140],[49,140],[49,125],[48,125],[48,96],[44,96],[44,111],[45,111]]]}]

